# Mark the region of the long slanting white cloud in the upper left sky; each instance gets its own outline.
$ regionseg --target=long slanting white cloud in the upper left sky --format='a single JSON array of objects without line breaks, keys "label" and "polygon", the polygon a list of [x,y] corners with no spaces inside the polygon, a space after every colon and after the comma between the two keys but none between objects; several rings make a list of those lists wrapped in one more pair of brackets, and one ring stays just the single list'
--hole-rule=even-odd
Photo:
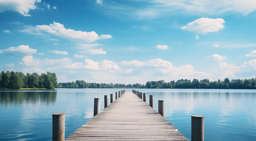
[{"label": "long slanting white cloud in the upper left sky", "polygon": [[53,22],[48,25],[25,26],[20,32],[32,35],[43,35],[44,33],[52,34],[75,42],[93,42],[99,39],[110,39],[111,35],[98,35],[96,32],[86,32],[74,29],[67,29],[63,24]]}]

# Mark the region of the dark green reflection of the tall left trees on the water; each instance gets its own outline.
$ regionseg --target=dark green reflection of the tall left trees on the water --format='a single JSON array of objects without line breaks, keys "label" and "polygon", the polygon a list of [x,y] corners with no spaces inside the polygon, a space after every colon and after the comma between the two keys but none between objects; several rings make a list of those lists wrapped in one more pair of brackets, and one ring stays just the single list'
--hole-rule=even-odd
[{"label": "dark green reflection of the tall left trees on the water", "polygon": [[46,104],[56,102],[56,91],[0,91],[0,105]]}]

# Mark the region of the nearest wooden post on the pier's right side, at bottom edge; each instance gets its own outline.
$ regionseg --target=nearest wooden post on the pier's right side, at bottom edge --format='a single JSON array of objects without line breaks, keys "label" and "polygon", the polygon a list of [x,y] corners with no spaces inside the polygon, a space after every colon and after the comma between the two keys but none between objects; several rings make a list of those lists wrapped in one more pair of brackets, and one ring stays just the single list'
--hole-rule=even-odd
[{"label": "nearest wooden post on the pier's right side, at bottom edge", "polygon": [[204,116],[191,116],[191,141],[204,141]]}]

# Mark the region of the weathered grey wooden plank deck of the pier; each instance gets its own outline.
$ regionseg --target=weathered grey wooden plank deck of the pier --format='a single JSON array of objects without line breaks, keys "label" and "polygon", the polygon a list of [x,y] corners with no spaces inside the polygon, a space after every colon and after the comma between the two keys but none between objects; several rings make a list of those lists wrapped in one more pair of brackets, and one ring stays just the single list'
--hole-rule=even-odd
[{"label": "weathered grey wooden plank deck of the pier", "polygon": [[66,141],[189,141],[132,92],[124,93]]}]

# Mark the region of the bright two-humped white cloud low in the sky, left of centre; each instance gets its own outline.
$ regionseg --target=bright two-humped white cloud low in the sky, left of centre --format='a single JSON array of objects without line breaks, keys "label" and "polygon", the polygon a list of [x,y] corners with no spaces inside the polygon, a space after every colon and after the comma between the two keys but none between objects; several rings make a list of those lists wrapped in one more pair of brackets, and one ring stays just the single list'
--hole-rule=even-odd
[{"label": "bright two-humped white cloud low in the sky, left of centre", "polygon": [[114,61],[103,60],[101,62],[94,62],[90,59],[85,59],[84,68],[92,70],[119,69],[118,65]]}]

